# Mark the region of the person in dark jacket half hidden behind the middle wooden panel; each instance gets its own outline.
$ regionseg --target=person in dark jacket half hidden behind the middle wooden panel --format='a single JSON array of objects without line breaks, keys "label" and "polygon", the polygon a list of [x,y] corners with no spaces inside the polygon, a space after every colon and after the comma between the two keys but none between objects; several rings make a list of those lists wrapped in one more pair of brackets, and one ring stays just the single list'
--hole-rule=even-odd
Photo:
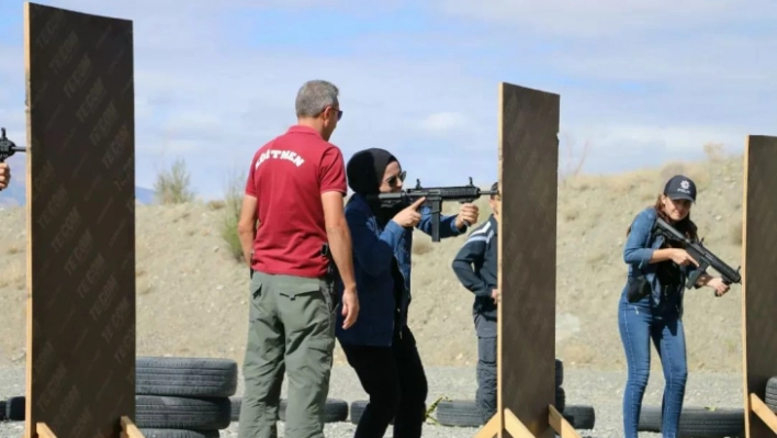
[{"label": "person in dark jacket half hidden behind the middle wooden panel", "polygon": [[[491,190],[496,191],[495,182]],[[499,301],[497,283],[497,232],[502,200],[498,194],[488,200],[492,214],[470,233],[470,237],[453,258],[453,272],[461,284],[475,295],[472,316],[477,334],[477,390],[475,404],[483,424],[496,414],[496,305]]]}]

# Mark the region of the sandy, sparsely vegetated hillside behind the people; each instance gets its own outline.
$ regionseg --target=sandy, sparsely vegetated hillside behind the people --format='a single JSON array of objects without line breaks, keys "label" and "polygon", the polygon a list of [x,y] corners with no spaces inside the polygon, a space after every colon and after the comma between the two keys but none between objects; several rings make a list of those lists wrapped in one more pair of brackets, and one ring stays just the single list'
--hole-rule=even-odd
[{"label": "sandy, sparsely vegetated hillside behind the people", "polygon": [[[616,308],[624,278],[626,228],[676,172],[686,172],[699,187],[692,216],[705,243],[730,265],[741,263],[742,157],[566,180],[559,194],[556,313],[556,356],[566,366],[623,368]],[[485,220],[487,204],[482,205]],[[11,207],[2,215],[0,364],[21,363],[24,211]],[[235,262],[221,237],[223,220],[224,210],[214,204],[138,206],[138,355],[219,356],[241,362],[247,270]],[[450,269],[464,239],[432,245],[417,233],[410,326],[428,366],[476,362],[472,295]],[[685,322],[691,369],[740,370],[741,312],[739,285],[722,299],[714,299],[709,289],[688,291]],[[339,347],[336,360],[342,362]]]}]

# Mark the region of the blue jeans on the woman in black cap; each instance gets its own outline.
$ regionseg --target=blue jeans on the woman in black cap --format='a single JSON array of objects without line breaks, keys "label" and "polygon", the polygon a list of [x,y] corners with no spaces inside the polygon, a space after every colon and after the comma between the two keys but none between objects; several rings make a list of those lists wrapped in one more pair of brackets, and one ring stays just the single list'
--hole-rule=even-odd
[{"label": "blue jeans on the woman in black cap", "polygon": [[662,435],[676,438],[685,383],[688,378],[685,332],[678,300],[653,303],[649,295],[634,303],[621,295],[618,304],[618,326],[629,368],[623,392],[623,431],[626,438],[637,438],[642,397],[650,378],[650,341],[653,340],[664,369],[664,398],[661,403]]}]

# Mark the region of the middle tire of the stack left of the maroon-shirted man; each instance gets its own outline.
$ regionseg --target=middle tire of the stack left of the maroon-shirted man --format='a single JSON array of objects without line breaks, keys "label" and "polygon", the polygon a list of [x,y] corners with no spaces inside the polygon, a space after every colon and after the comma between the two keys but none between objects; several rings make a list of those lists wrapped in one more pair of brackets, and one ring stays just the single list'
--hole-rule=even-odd
[{"label": "middle tire of the stack left of the maroon-shirted man", "polygon": [[135,425],[147,429],[217,430],[229,427],[227,397],[184,398],[136,395]]}]

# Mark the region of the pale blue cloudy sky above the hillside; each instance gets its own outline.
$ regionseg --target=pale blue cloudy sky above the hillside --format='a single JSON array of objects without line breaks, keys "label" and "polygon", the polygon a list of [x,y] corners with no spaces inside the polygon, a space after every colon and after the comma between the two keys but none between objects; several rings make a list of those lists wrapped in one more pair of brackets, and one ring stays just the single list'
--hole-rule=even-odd
[{"label": "pale blue cloudy sky above the hillside", "polygon": [[[424,184],[495,180],[499,81],[561,94],[563,168],[586,143],[584,171],[617,172],[777,135],[774,0],[40,2],[134,21],[142,187],[183,158],[218,196],[314,78],[340,88],[346,159],[384,147]],[[0,29],[0,125],[22,144],[22,1]]]}]

